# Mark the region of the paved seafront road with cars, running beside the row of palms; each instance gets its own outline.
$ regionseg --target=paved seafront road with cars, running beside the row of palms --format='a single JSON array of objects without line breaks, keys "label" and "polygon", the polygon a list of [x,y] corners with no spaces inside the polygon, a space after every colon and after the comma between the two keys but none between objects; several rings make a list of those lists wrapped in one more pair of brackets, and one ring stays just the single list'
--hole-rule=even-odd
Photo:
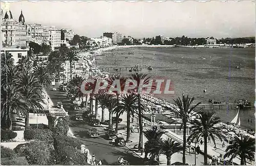
[{"label": "paved seafront road with cars, running beside the row of palms", "polygon": [[74,121],[72,117],[75,114],[81,114],[74,110],[70,110],[69,102],[70,100],[66,99],[67,93],[59,91],[47,90],[48,95],[50,96],[52,102],[61,101],[63,108],[68,111],[70,116],[70,129],[72,130],[74,136],[77,139],[81,140],[84,145],[90,150],[91,154],[95,154],[97,160],[101,160],[102,164],[115,164],[117,158],[123,156],[124,159],[130,162],[132,165],[142,165],[142,159],[137,156],[133,151],[127,147],[113,147],[110,144],[110,140],[106,140],[104,137],[104,130],[102,127],[96,127],[100,133],[100,137],[90,138],[87,134],[87,130],[92,128],[92,126],[86,124],[83,121]]}]

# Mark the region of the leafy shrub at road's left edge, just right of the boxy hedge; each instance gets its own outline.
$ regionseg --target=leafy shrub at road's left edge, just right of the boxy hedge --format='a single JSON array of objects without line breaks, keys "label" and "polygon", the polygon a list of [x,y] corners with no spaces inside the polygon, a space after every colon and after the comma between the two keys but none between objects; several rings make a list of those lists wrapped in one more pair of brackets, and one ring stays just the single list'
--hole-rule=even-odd
[{"label": "leafy shrub at road's left edge, just right of the boxy hedge", "polygon": [[54,135],[68,135],[69,116],[60,117],[57,125],[53,128]]}]

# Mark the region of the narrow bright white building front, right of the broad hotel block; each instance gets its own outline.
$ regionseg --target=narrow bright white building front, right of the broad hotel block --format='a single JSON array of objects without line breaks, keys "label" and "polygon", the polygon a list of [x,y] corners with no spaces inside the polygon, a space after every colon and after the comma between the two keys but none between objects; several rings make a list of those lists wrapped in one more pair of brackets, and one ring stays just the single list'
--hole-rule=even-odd
[{"label": "narrow bright white building front, right of the broad hotel block", "polygon": [[59,47],[60,44],[63,44],[61,41],[61,31],[57,30],[55,27],[49,28],[49,41],[51,42],[51,47],[54,49],[55,47]]}]

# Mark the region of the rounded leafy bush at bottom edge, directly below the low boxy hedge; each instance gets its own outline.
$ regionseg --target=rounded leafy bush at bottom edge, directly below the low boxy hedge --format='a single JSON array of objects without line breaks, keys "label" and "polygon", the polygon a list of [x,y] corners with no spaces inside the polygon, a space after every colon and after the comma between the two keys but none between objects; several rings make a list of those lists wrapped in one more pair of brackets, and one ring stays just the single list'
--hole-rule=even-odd
[{"label": "rounded leafy bush at bottom edge, directly below the low boxy hedge", "polygon": [[33,142],[24,149],[29,164],[47,165],[51,161],[53,148],[46,142]]}]

